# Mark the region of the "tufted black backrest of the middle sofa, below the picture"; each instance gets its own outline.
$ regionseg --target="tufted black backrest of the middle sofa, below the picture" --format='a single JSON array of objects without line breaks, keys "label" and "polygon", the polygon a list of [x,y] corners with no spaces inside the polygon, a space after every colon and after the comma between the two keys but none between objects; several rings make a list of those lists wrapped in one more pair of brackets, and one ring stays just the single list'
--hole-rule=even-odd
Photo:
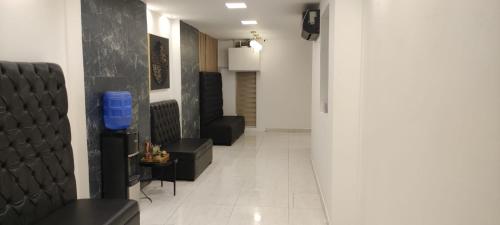
[{"label": "tufted black backrest of the middle sofa, below the picture", "polygon": [[151,142],[156,145],[167,145],[181,139],[179,105],[175,100],[152,103]]}]

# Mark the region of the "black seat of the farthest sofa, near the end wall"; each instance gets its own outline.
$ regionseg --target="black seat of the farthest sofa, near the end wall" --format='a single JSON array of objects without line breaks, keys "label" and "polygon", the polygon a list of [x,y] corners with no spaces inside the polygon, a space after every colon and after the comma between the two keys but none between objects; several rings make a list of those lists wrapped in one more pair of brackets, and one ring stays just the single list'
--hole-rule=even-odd
[{"label": "black seat of the farthest sofa, near the end wall", "polygon": [[232,145],[245,132],[245,118],[224,116],[201,128],[201,136],[216,145]]}]

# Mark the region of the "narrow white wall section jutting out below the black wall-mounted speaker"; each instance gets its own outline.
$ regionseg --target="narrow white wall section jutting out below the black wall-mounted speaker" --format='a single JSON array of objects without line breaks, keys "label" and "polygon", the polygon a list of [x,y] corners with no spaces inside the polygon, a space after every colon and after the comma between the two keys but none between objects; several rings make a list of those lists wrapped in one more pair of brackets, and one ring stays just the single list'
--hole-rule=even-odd
[{"label": "narrow white wall section jutting out below the black wall-mounted speaker", "polygon": [[320,112],[320,42],[314,44],[311,159],[331,224],[359,224],[359,117],[363,0],[322,1],[329,8],[328,114]]}]

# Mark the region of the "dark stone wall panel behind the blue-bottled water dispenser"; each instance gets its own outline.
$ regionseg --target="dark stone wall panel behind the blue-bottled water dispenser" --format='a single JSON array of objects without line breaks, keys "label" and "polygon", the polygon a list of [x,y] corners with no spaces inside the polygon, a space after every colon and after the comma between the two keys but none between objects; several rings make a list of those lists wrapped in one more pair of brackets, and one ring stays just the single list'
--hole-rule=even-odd
[{"label": "dark stone wall panel behind the blue-bottled water dispenser", "polygon": [[[101,95],[130,91],[131,128],[150,137],[146,5],[140,0],[82,0],[90,194],[101,197]],[[82,131],[83,132],[83,131]]]}]

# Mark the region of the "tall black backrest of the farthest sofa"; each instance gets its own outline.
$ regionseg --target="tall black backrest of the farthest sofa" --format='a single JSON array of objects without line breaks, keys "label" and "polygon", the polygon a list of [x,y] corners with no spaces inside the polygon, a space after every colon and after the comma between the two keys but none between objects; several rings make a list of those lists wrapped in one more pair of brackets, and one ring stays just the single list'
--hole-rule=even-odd
[{"label": "tall black backrest of the farthest sofa", "polygon": [[224,115],[222,77],[217,72],[200,73],[200,123],[207,125]]}]

